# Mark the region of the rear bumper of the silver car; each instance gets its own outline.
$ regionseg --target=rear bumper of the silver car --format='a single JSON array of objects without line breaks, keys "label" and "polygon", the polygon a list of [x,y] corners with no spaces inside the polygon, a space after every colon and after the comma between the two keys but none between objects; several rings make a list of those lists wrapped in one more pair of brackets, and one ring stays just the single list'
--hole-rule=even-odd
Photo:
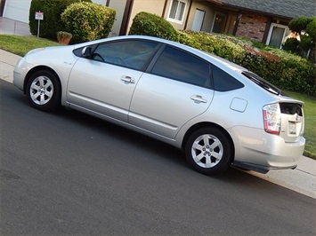
[{"label": "rear bumper of the silver car", "polygon": [[234,164],[242,168],[256,171],[295,169],[304,153],[303,137],[298,137],[294,143],[286,143],[280,136],[260,129],[235,127],[229,131],[235,144]]}]

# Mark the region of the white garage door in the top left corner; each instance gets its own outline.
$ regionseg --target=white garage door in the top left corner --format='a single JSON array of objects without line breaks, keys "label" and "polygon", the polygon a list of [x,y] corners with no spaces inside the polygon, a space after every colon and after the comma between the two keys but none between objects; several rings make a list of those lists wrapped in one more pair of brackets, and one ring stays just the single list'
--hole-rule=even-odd
[{"label": "white garage door in the top left corner", "polygon": [[4,17],[28,23],[30,4],[31,0],[6,0]]}]

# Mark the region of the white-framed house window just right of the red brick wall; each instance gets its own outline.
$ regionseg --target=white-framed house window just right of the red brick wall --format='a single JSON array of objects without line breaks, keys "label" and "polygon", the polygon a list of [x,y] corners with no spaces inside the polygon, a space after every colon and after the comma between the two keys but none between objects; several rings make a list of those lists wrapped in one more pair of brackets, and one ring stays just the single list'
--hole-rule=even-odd
[{"label": "white-framed house window just right of the red brick wall", "polygon": [[281,48],[282,43],[285,42],[285,39],[290,33],[291,32],[287,26],[272,23],[266,44],[274,46],[276,48]]}]

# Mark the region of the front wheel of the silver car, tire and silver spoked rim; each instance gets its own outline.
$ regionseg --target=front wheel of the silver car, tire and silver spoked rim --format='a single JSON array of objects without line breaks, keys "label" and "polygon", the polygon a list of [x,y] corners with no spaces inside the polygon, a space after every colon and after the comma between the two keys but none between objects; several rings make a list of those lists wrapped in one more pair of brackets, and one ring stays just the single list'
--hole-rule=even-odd
[{"label": "front wheel of the silver car, tire and silver spoked rim", "polygon": [[49,70],[31,75],[26,94],[30,105],[40,111],[53,112],[61,106],[61,83]]}]

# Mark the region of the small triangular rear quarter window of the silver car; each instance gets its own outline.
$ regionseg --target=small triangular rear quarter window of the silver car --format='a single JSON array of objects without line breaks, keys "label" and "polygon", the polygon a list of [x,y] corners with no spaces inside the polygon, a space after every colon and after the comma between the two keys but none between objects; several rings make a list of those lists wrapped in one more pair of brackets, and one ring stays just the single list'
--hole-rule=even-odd
[{"label": "small triangular rear quarter window of the silver car", "polygon": [[244,87],[243,83],[240,83],[231,75],[224,72],[219,67],[212,67],[214,88],[218,91],[237,90]]}]

